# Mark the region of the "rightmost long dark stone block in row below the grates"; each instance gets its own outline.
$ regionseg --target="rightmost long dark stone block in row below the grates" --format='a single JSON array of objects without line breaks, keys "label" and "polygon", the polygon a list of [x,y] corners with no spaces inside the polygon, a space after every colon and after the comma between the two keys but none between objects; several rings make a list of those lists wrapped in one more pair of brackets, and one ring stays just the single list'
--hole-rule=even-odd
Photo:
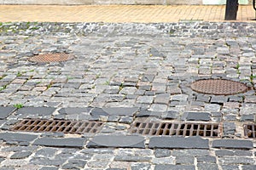
[{"label": "rightmost long dark stone block in row below the grates", "polygon": [[253,142],[250,140],[236,140],[236,139],[217,139],[212,142],[213,148],[226,148],[226,149],[253,149]]}]

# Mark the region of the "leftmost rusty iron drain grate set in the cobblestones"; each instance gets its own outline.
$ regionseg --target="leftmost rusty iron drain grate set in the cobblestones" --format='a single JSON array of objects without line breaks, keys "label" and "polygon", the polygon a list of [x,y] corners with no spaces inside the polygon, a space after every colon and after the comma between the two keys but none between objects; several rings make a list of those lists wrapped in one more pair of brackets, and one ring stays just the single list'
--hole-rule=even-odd
[{"label": "leftmost rusty iron drain grate set in the cobblestones", "polygon": [[12,131],[35,133],[98,133],[102,129],[102,122],[83,122],[66,120],[25,119],[18,122]]}]

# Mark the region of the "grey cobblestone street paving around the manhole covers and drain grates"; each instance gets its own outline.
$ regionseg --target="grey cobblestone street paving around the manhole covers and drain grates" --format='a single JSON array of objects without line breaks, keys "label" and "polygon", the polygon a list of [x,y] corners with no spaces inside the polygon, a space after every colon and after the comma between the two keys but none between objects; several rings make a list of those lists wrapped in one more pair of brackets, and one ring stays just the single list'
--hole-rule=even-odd
[{"label": "grey cobblestone street paving around the manhole covers and drain grates", "polygon": [[[256,169],[256,25],[3,23],[0,169]],[[36,54],[66,62],[36,63]],[[198,79],[243,82],[244,94],[199,94]],[[99,133],[10,130],[25,118],[102,122]],[[133,122],[219,123],[214,138],[133,134]]]}]

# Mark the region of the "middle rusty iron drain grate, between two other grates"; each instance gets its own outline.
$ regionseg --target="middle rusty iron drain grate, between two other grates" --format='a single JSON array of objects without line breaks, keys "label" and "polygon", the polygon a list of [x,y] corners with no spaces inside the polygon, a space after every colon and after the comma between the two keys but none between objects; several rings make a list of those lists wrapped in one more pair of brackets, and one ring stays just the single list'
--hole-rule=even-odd
[{"label": "middle rusty iron drain grate, between two other grates", "polygon": [[134,122],[130,133],[143,135],[201,136],[217,138],[221,136],[218,123],[178,123],[178,122]]}]

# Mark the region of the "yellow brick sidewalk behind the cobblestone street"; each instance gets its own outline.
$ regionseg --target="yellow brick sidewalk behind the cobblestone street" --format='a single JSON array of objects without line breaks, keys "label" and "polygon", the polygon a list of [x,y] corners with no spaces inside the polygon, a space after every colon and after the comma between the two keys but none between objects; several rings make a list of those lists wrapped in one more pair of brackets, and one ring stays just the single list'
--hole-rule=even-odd
[{"label": "yellow brick sidewalk behind the cobblestone street", "polygon": [[[225,6],[0,6],[0,21],[38,22],[141,22],[160,23],[179,20],[223,21]],[[255,18],[253,7],[240,5],[238,21]]]}]

